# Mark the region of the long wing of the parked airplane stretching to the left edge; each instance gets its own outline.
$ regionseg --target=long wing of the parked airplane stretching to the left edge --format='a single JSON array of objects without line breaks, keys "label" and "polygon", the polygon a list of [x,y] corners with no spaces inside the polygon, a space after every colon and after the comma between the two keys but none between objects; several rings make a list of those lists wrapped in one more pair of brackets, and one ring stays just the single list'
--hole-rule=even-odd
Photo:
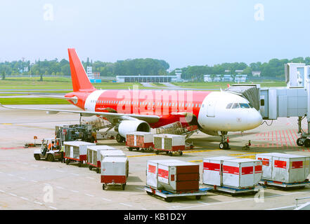
[{"label": "long wing of the parked airplane stretching to the left edge", "polygon": [[[65,97],[67,98],[67,97]],[[29,107],[14,107],[14,106],[0,106],[6,109],[22,109],[22,110],[34,110],[34,111],[46,111],[49,114],[56,114],[59,112],[64,113],[79,113],[81,116],[101,116],[107,118],[111,123],[116,123],[118,120],[144,120],[147,123],[157,123],[160,120],[160,116],[156,115],[141,115],[141,114],[127,114],[127,113],[109,113],[109,112],[96,112],[96,111],[71,111],[71,110],[58,110],[58,109],[38,109]]]}]

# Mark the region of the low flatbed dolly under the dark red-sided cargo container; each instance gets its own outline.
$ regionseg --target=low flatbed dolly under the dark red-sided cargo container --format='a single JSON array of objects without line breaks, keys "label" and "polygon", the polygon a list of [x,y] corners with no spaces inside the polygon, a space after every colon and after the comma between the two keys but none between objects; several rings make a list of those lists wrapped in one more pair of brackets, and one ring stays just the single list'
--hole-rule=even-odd
[{"label": "low flatbed dolly under the dark red-sided cargo container", "polygon": [[171,193],[166,190],[158,190],[155,188],[151,188],[150,186],[145,186],[144,190],[148,195],[157,195],[159,197],[163,197],[166,202],[172,202],[174,197],[188,197],[188,196],[195,196],[196,200],[200,200],[201,196],[207,195],[207,190],[211,190],[212,188],[200,188],[197,191],[191,193]]}]

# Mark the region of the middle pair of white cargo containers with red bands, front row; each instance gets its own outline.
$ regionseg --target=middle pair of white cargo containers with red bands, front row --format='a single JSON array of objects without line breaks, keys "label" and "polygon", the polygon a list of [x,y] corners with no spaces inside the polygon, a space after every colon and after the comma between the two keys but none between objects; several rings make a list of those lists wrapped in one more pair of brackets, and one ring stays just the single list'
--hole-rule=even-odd
[{"label": "middle pair of white cargo containers with red bands, front row", "polygon": [[202,182],[228,188],[253,188],[261,180],[261,160],[231,157],[205,158]]}]

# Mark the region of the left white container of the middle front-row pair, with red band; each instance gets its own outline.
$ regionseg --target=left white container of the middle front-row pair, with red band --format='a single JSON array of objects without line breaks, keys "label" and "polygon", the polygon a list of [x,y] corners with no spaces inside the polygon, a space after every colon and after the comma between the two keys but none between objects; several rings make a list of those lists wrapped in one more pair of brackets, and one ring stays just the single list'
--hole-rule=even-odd
[{"label": "left white container of the middle front-row pair, with red band", "polygon": [[225,160],[238,159],[219,156],[203,159],[202,183],[212,186],[223,186],[222,165]]}]

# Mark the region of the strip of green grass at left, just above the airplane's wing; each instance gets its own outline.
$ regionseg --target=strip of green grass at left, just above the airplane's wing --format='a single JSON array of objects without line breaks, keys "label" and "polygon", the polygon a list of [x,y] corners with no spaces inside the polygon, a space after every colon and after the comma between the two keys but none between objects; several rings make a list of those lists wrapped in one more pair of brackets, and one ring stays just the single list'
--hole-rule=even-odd
[{"label": "strip of green grass at left, just above the airplane's wing", "polygon": [[10,104],[70,104],[65,99],[51,98],[0,98],[0,103],[4,105]]}]

